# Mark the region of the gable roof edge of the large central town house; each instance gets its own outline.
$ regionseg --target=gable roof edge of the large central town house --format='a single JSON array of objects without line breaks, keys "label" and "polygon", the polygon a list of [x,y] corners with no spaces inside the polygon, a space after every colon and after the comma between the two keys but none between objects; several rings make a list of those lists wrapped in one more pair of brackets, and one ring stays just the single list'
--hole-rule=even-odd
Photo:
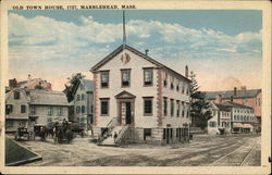
[{"label": "gable roof edge of the large central town house", "polygon": [[127,49],[127,50],[132,51],[133,53],[138,54],[140,58],[143,58],[143,59],[145,59],[145,60],[147,60],[147,61],[153,63],[154,65],[157,65],[157,66],[159,66],[159,67],[163,67],[163,68],[165,68],[165,70],[172,72],[173,74],[175,74],[175,75],[177,75],[177,76],[181,76],[183,79],[185,79],[185,80],[187,80],[187,82],[189,82],[189,83],[191,82],[190,79],[188,79],[187,77],[183,76],[182,74],[175,72],[174,70],[172,70],[172,68],[165,66],[164,64],[162,64],[162,63],[160,63],[160,62],[153,60],[152,58],[146,55],[145,53],[141,53],[140,51],[138,51],[138,50],[136,50],[136,49],[134,49],[133,47],[129,47],[129,46],[127,46],[127,45],[125,45],[124,47],[123,47],[123,45],[121,45],[118,49],[115,49],[113,52],[111,52],[111,53],[108,54],[104,59],[102,59],[100,62],[98,62],[96,65],[94,65],[94,66],[91,67],[90,71],[91,71],[91,72],[97,71],[97,70],[100,68],[102,65],[104,65],[107,62],[109,62],[111,59],[113,59],[116,54],[119,54],[120,52],[122,52],[123,49]]}]

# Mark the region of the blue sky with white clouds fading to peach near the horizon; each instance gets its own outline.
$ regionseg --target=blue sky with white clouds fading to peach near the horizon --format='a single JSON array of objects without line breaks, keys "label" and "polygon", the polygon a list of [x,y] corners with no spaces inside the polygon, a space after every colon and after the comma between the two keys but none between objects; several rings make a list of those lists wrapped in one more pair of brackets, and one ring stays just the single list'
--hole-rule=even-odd
[{"label": "blue sky with white clouds fading to peach near the horizon", "polygon": [[[262,21],[255,10],[133,10],[126,43],[184,75],[200,90],[261,88]],[[122,45],[122,11],[9,11],[9,78],[40,77],[63,90]]]}]

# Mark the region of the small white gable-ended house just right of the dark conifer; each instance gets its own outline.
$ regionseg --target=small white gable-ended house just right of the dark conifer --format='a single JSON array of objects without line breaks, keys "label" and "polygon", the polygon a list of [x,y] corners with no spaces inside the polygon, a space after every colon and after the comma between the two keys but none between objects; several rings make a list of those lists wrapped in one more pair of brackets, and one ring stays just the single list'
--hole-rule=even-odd
[{"label": "small white gable-ended house just right of the dark conifer", "polygon": [[208,134],[217,135],[219,132],[224,134],[231,133],[232,112],[231,109],[219,103],[210,102],[212,117],[208,121]]}]

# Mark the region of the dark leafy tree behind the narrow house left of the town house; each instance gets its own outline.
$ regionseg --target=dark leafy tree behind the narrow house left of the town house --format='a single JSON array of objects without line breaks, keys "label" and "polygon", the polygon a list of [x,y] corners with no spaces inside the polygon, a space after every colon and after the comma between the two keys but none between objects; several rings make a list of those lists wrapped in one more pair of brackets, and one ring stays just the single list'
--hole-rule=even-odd
[{"label": "dark leafy tree behind the narrow house left of the town house", "polygon": [[66,95],[69,102],[74,100],[75,88],[76,88],[77,84],[79,83],[79,80],[83,79],[84,77],[85,77],[84,75],[82,75],[81,73],[77,73],[77,74],[73,74],[71,78],[70,77],[67,78],[69,82],[65,85],[64,92]]}]

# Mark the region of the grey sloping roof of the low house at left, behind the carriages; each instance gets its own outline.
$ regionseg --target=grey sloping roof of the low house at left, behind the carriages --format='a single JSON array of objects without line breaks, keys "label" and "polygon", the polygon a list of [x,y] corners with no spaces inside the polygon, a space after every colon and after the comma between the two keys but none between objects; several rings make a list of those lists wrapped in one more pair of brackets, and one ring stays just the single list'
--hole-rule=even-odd
[{"label": "grey sloping roof of the low house at left, behind the carriages", "polygon": [[69,105],[65,93],[49,90],[29,90],[29,103],[36,105]]}]

